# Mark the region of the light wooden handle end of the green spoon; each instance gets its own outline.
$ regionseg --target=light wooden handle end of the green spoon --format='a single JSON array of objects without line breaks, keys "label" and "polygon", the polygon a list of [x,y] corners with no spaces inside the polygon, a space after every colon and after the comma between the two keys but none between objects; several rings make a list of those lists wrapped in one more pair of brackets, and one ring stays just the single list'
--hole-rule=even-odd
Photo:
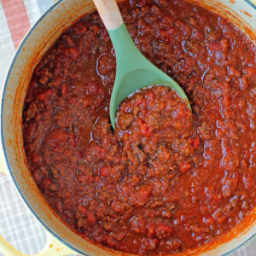
[{"label": "light wooden handle end of the green spoon", "polygon": [[107,29],[115,29],[124,21],[115,0],[93,0]]}]

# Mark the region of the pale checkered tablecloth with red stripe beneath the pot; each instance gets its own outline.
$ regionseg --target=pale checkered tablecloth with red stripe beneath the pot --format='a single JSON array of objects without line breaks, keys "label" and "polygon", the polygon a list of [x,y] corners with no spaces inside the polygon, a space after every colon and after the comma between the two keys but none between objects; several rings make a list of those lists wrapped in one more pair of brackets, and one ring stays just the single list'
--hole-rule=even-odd
[{"label": "pale checkered tablecloth with red stripe beneath the pot", "polygon": [[[12,56],[15,54],[15,49],[20,44],[20,40],[40,15],[49,9],[53,3],[54,0],[0,0],[1,94],[5,73]],[[11,178],[1,173],[0,234],[21,253],[26,254],[40,252],[46,242],[44,228],[32,216],[32,213],[21,200]],[[3,255],[1,244],[0,255]],[[238,255],[255,256],[256,239],[232,253],[232,256]]]}]

